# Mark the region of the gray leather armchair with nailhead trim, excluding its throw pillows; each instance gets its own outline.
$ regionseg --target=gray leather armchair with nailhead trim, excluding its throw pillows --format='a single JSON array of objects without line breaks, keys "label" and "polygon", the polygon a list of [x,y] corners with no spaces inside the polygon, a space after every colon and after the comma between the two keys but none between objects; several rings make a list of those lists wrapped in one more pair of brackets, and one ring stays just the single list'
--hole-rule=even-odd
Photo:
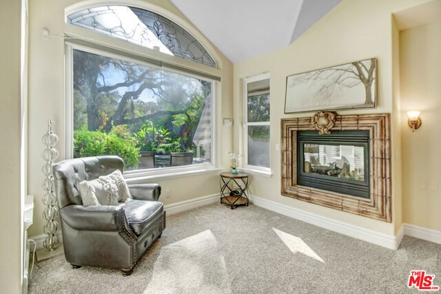
[{"label": "gray leather armchair with nailhead trim, excluding its throw pillows", "polygon": [[57,162],[55,191],[60,207],[65,259],[74,269],[103,266],[130,275],[134,265],[165,229],[158,184],[128,185],[133,200],[118,206],[83,206],[79,182],[123,171],[118,156],[74,158]]}]

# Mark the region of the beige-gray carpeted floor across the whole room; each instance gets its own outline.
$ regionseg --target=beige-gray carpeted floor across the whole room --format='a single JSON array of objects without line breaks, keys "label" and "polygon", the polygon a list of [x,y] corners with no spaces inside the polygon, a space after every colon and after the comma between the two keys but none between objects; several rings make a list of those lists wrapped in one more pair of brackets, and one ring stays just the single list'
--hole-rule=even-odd
[{"label": "beige-gray carpeted floor across the whole room", "polygon": [[418,293],[411,270],[440,286],[441,244],[404,237],[393,251],[255,205],[211,204],[167,216],[128,277],[59,256],[34,266],[29,293]]}]

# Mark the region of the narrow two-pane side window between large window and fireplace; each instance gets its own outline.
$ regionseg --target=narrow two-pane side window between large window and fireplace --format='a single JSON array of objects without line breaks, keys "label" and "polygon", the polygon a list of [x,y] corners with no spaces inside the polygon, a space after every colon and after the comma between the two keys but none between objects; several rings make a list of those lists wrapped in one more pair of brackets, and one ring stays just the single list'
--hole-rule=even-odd
[{"label": "narrow two-pane side window between large window and fireplace", "polygon": [[269,169],[269,74],[245,80],[245,166]]}]

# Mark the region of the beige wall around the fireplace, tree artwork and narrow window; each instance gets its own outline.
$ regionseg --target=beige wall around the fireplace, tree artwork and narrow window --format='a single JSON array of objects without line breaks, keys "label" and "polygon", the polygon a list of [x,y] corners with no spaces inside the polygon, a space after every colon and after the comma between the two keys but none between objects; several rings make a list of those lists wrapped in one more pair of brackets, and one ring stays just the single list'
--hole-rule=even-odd
[{"label": "beige wall around the fireplace, tree artwork and narrow window", "polygon": [[[271,75],[271,178],[254,176],[252,194],[307,212],[317,213],[335,220],[360,227],[395,235],[401,226],[400,209],[400,130],[399,116],[393,115],[393,223],[362,218],[350,213],[327,209],[280,195],[280,153],[275,144],[280,143],[280,118],[311,116],[306,114],[284,114],[286,77],[291,74],[369,59],[378,59],[378,106],[376,109],[340,111],[352,113],[393,113],[398,105],[393,104],[393,23],[392,12],[415,6],[425,1],[402,0],[344,0],[318,23],[291,45],[263,56],[234,64],[234,118],[242,116],[243,78],[261,72]],[[395,35],[398,34],[395,28]],[[265,36],[263,36],[265,37]],[[396,71],[396,68],[395,68]],[[240,126],[234,128],[235,151],[240,151]]]}]

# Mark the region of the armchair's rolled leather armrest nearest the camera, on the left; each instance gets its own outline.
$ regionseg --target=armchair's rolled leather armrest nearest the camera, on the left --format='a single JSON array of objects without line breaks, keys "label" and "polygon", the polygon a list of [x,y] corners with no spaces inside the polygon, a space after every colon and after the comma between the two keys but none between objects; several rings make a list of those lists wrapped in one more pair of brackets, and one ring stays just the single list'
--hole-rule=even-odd
[{"label": "armchair's rolled leather armrest nearest the camera, on the left", "polygon": [[[124,231],[129,225],[123,207],[112,205],[68,205],[60,211],[63,221],[76,230]],[[130,230],[132,231],[132,230]],[[131,234],[134,234],[131,232]]]}]

